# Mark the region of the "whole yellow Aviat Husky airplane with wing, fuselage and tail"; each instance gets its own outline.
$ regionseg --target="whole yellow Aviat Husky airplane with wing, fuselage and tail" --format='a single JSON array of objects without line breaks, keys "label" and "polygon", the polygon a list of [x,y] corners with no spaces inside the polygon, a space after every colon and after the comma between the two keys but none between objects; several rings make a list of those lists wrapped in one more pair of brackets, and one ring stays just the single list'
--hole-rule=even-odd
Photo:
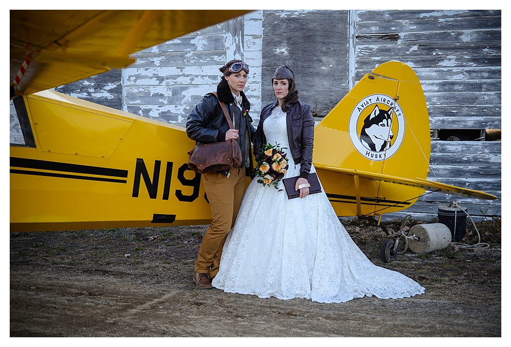
[{"label": "whole yellow Aviat Husky airplane with wing, fuselage and tail", "polygon": [[[249,11],[10,11],[10,230],[208,224],[195,146],[182,127],[50,88],[122,68],[129,55]],[[313,163],[338,216],[379,217],[426,191],[495,196],[426,180],[426,101],[411,68],[366,74],[316,126]]]}]

